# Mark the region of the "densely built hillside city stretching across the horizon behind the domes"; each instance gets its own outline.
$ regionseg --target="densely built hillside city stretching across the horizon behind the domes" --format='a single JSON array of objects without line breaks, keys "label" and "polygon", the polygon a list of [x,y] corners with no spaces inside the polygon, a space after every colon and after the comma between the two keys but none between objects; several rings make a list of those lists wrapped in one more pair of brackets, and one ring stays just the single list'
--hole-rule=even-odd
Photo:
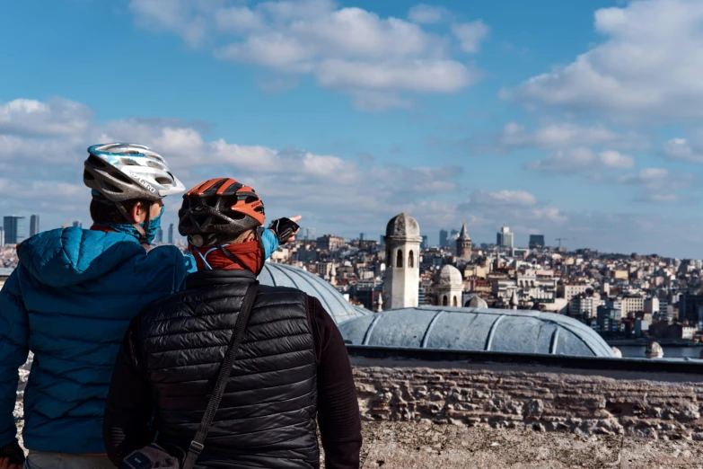
[{"label": "densely built hillside city stretching across the horizon behind the domes", "polygon": [[[80,221],[72,225],[83,227]],[[38,215],[5,216],[0,267],[13,270],[15,245],[39,232]],[[307,270],[351,305],[373,312],[418,305],[536,310],[575,318],[617,345],[700,341],[703,261],[590,249],[570,252],[562,245],[564,239],[549,245],[542,234],[530,234],[528,246],[516,246],[509,226],[498,227],[496,240],[487,243],[474,243],[465,222],[438,232],[439,245],[419,235],[416,251],[406,247],[406,255],[384,235],[317,236],[307,226],[294,243],[274,252],[271,261]],[[173,224],[159,228],[155,244],[186,247],[174,236]],[[403,287],[401,294],[394,287],[394,272],[396,277],[410,275],[403,279],[410,287]]]}]

